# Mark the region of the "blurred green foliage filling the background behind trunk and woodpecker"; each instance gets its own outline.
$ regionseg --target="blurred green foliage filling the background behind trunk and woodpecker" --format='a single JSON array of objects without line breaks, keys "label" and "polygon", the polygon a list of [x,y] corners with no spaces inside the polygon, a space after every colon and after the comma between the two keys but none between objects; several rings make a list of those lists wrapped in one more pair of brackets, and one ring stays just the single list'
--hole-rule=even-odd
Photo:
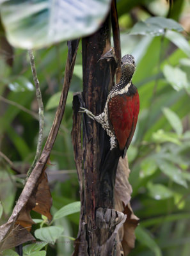
[{"label": "blurred green foliage filling the background behind trunk and woodpecker", "polygon": [[[120,0],[117,6],[122,54],[131,53],[136,59],[133,83],[138,87],[141,103],[138,127],[128,151],[131,204],[141,220],[136,229],[136,248],[130,255],[189,256],[190,4],[176,0],[169,10],[164,0]],[[3,19],[3,11],[1,15]],[[43,15],[39,19],[44,22]],[[185,29],[182,33],[177,22]],[[8,44],[2,25],[0,31],[0,147],[21,173],[15,174],[1,154],[0,224],[3,224],[22,191],[25,173],[35,156],[38,108],[28,54]],[[45,106],[45,141],[63,84],[67,43],[59,42],[34,53]],[[37,223],[32,232],[44,243],[25,245],[24,255],[72,253],[79,223],[79,186],[70,138],[72,94],[81,90],[80,45],[67,108],[51,154],[52,165],[47,170],[53,221],[47,225],[44,216],[31,212]],[[13,250],[3,253],[16,255]]]}]

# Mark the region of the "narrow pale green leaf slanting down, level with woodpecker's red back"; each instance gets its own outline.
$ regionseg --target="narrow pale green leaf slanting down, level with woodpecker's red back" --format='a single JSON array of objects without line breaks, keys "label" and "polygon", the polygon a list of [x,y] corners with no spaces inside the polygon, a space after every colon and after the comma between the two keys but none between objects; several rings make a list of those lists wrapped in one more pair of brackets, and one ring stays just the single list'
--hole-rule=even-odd
[{"label": "narrow pale green leaf slanting down, level with woodpecker's red back", "polygon": [[183,126],[178,115],[175,112],[171,111],[171,109],[169,108],[163,108],[162,112],[164,113],[164,115],[168,119],[168,122],[171,124],[171,127],[178,134],[178,136],[182,135]]}]

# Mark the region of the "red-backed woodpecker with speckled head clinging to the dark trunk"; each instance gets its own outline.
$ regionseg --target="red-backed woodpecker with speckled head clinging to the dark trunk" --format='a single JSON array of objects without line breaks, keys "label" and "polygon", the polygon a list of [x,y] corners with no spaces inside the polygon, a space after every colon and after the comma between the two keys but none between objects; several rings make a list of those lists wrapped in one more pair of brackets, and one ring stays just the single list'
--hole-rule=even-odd
[{"label": "red-backed woodpecker with speckled head clinging to the dark trunk", "polygon": [[[100,60],[110,61],[111,58],[115,58],[113,51],[104,54]],[[110,150],[118,147],[120,156],[124,158],[134,135],[139,114],[138,90],[131,81],[136,64],[131,54],[123,56],[121,68],[120,82],[109,92],[104,111],[95,116],[88,109],[81,107],[80,112],[86,113],[102,125],[110,137]]]}]

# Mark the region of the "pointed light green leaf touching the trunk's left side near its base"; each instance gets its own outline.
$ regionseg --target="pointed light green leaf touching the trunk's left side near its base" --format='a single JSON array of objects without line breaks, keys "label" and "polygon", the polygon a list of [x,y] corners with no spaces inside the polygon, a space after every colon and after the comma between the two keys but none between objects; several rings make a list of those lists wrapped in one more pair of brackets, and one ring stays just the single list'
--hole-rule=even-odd
[{"label": "pointed light green leaf touching the trunk's left side near its base", "polygon": [[63,206],[54,214],[54,220],[63,218],[69,214],[81,211],[81,202],[74,202]]}]

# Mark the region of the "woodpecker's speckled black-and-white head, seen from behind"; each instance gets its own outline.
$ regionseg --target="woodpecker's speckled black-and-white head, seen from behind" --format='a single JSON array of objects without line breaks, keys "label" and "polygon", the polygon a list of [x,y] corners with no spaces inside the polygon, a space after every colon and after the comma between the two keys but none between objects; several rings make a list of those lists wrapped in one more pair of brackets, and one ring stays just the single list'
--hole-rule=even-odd
[{"label": "woodpecker's speckled black-and-white head, seen from behind", "polygon": [[122,76],[131,77],[136,68],[134,57],[131,54],[126,54],[121,60]]}]

